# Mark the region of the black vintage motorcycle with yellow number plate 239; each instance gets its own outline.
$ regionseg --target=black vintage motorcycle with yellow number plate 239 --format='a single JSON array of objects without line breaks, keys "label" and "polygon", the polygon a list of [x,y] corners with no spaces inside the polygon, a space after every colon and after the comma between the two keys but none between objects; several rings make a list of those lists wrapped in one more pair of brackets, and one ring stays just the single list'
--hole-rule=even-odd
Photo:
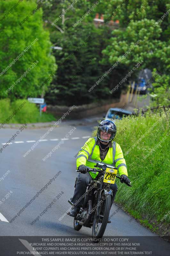
[{"label": "black vintage motorcycle with yellow number plate 239", "polygon": [[[123,179],[117,174],[117,168],[107,164],[97,163],[96,168],[87,168],[88,172],[99,172],[97,179],[91,180],[84,196],[83,204],[80,211],[74,218],[74,229],[80,230],[82,226],[91,228],[92,237],[94,241],[102,238],[107,226],[111,202],[112,202],[112,190],[111,184],[115,183],[115,179],[119,178],[123,183]],[[76,170],[76,172],[79,172]],[[76,183],[75,183],[76,185]],[[126,184],[131,187],[131,182]],[[68,203],[73,206],[71,199]],[[68,212],[69,214],[69,212]]]}]

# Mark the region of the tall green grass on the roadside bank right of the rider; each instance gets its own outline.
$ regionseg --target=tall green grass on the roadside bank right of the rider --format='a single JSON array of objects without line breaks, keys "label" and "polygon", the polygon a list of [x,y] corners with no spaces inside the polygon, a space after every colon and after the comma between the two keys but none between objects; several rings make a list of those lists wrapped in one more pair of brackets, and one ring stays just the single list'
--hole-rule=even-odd
[{"label": "tall green grass on the roadside bank right of the rider", "polygon": [[[140,140],[159,118],[159,113],[151,116],[147,113],[146,117],[126,117],[116,122],[115,141],[122,148],[128,168],[128,178],[133,185],[130,188],[117,179],[116,201],[123,204],[126,209],[132,210],[131,213],[133,211],[139,213],[139,216],[143,216],[145,220],[168,224],[170,223],[170,214],[167,214],[170,211],[169,114]],[[119,134],[123,129],[125,132]],[[138,140],[140,142],[132,148]],[[158,145],[161,140],[163,142]],[[152,149],[154,151],[151,151]],[[146,156],[147,158],[144,159]],[[162,218],[164,220],[161,220]]]}]

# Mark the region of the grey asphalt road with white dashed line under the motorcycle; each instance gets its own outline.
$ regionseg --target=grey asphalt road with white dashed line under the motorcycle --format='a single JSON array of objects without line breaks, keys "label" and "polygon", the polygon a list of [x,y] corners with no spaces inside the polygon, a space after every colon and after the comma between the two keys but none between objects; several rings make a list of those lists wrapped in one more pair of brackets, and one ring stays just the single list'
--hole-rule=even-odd
[{"label": "grey asphalt road with white dashed line under the motorcycle", "polygon": [[[96,120],[91,121],[91,123],[81,121],[62,122],[25,157],[23,155],[34,145],[34,141],[39,140],[48,128],[24,129],[17,134],[11,145],[3,149],[0,153],[0,236],[91,236],[92,229],[90,228],[82,227],[79,232],[75,231],[72,217],[66,215],[62,220],[59,220],[70,208],[67,201],[73,196],[74,181],[77,176],[75,173],[76,158],[74,156],[87,140],[87,138],[82,137],[90,137],[93,126],[97,125]],[[79,125],[81,123],[82,125]],[[6,143],[17,131],[18,128],[1,129],[1,147],[4,146],[2,143]],[[71,134],[70,131],[73,131],[73,133]],[[42,159],[64,137],[67,140],[63,144],[60,143],[59,148],[43,161]],[[4,176],[5,173],[7,173],[6,176]],[[59,174],[56,179],[52,180],[57,173]],[[1,177],[4,177],[4,180]],[[42,190],[40,195],[10,223],[12,218],[49,180],[52,180],[51,184]],[[60,198],[58,198],[59,194]],[[49,204],[51,202],[54,203],[50,208]],[[49,206],[48,211],[31,225],[30,223],[47,206]],[[110,214],[117,208],[118,206],[112,205]],[[119,210],[111,218],[112,222],[107,225],[104,235],[155,236],[134,219],[129,220],[129,215]],[[159,243],[160,246],[168,246],[162,238],[159,238]]]}]

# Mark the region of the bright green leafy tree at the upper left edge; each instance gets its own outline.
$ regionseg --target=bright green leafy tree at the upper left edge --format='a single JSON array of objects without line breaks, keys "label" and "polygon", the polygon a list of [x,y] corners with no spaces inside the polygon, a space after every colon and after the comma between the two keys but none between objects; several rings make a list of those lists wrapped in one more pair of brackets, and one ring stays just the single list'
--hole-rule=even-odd
[{"label": "bright green leafy tree at the upper left edge", "polygon": [[[55,58],[50,55],[49,32],[43,28],[42,9],[37,8],[33,11],[37,7],[36,1],[23,1],[3,19],[3,15],[15,4],[15,0],[0,1],[0,72],[14,59],[16,60],[7,71],[0,73],[0,97],[10,97],[11,100],[40,96],[43,90],[39,88],[40,84],[57,67]],[[33,14],[29,16],[32,11]],[[31,46],[28,49],[29,45]],[[24,51],[25,49],[27,52]],[[21,57],[17,60],[21,53]],[[35,67],[32,66],[34,62]],[[29,72],[24,76],[26,71]],[[19,78],[20,82],[16,82]],[[46,86],[49,84],[50,80]],[[10,87],[11,89],[8,90]]]}]

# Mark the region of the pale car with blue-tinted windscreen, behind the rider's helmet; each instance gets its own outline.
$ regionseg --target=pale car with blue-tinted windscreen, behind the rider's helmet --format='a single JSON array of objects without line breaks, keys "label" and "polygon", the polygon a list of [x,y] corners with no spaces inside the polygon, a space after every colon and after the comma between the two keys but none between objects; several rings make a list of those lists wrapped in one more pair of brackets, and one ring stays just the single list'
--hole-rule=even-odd
[{"label": "pale car with blue-tinted windscreen, behind the rider's helmet", "polygon": [[115,120],[115,119],[122,119],[123,116],[129,116],[132,115],[131,111],[128,110],[122,110],[122,108],[109,108],[107,111],[107,114],[105,116],[105,120]]}]

